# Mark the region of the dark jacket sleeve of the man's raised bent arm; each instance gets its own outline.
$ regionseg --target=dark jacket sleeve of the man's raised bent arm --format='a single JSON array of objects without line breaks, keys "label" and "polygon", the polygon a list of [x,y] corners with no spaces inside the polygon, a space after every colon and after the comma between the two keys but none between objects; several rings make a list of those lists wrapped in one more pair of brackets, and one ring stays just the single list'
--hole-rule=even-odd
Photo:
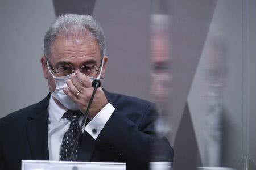
[{"label": "dark jacket sleeve of the man's raised bent arm", "polygon": [[[133,112],[133,111],[131,111]],[[150,104],[143,112],[139,122],[136,122],[140,114],[138,112],[123,114],[115,109],[112,116],[102,129],[96,140],[96,145],[109,143],[126,157],[126,162],[147,163],[154,161],[172,162],[173,150],[166,138],[157,138],[154,121],[158,115],[154,105]],[[155,145],[157,143],[157,145]],[[155,155],[152,148],[160,146],[164,148],[164,156]]]}]

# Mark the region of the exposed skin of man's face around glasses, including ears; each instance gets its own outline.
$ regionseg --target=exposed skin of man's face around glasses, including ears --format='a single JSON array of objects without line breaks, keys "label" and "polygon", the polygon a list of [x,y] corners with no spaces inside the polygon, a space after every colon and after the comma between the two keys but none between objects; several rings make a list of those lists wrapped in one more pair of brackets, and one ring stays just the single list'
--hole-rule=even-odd
[{"label": "exposed skin of man's face around glasses, including ears", "polygon": [[[104,65],[102,68],[101,78],[105,76],[106,62],[108,57],[104,56]],[[73,67],[79,70],[85,65],[96,65],[97,69],[101,64],[100,47],[97,41],[91,36],[85,37],[56,37],[51,49],[51,57],[49,58],[53,69],[59,67]],[[51,92],[55,91],[55,81],[49,73],[46,57],[41,58],[41,63],[44,72],[44,78],[48,79],[48,85]],[[51,70],[52,71],[52,70]],[[96,71],[94,76],[97,76],[100,71]],[[52,74],[60,76],[56,73]]]}]

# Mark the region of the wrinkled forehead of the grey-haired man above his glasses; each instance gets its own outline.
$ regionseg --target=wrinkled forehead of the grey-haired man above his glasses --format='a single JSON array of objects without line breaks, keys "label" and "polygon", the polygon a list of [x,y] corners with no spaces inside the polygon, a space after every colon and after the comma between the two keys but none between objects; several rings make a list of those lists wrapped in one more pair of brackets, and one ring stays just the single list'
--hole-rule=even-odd
[{"label": "wrinkled forehead of the grey-haired man above his glasses", "polygon": [[94,57],[100,58],[100,46],[92,35],[85,36],[57,36],[52,45],[52,58],[77,59]]}]

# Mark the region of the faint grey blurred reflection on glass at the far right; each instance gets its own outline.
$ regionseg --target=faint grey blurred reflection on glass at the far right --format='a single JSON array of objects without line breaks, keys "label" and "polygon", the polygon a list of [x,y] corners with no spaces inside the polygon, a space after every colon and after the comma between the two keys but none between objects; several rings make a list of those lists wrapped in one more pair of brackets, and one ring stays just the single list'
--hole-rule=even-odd
[{"label": "faint grey blurred reflection on glass at the far right", "polygon": [[213,37],[206,50],[205,78],[205,131],[204,165],[220,167],[223,120],[223,88],[226,76],[226,49],[224,42]]}]

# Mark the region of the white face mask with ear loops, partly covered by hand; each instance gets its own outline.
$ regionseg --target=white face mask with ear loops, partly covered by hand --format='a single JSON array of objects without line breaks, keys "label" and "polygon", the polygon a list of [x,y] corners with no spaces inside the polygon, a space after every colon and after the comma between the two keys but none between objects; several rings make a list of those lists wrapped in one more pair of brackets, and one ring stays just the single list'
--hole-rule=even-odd
[{"label": "white face mask with ear loops, partly covered by hand", "polygon": [[[77,104],[68,96],[65,94],[65,92],[63,91],[64,87],[68,87],[67,85],[67,80],[70,79],[72,77],[73,74],[69,74],[67,76],[54,76],[51,72],[51,69],[49,68],[49,63],[47,61],[47,67],[49,70],[49,73],[51,73],[52,78],[55,81],[55,91],[52,92],[52,96],[55,97],[55,99],[57,99],[61,104],[64,105],[65,108],[69,109],[69,110],[79,110]],[[94,80],[94,79],[98,79],[101,80],[101,73],[102,73],[102,67],[103,67],[103,59],[101,61],[101,69],[100,69],[100,74],[98,74],[97,78],[94,77],[90,77],[87,76],[88,78]],[[86,75],[85,75],[86,76]]]}]

